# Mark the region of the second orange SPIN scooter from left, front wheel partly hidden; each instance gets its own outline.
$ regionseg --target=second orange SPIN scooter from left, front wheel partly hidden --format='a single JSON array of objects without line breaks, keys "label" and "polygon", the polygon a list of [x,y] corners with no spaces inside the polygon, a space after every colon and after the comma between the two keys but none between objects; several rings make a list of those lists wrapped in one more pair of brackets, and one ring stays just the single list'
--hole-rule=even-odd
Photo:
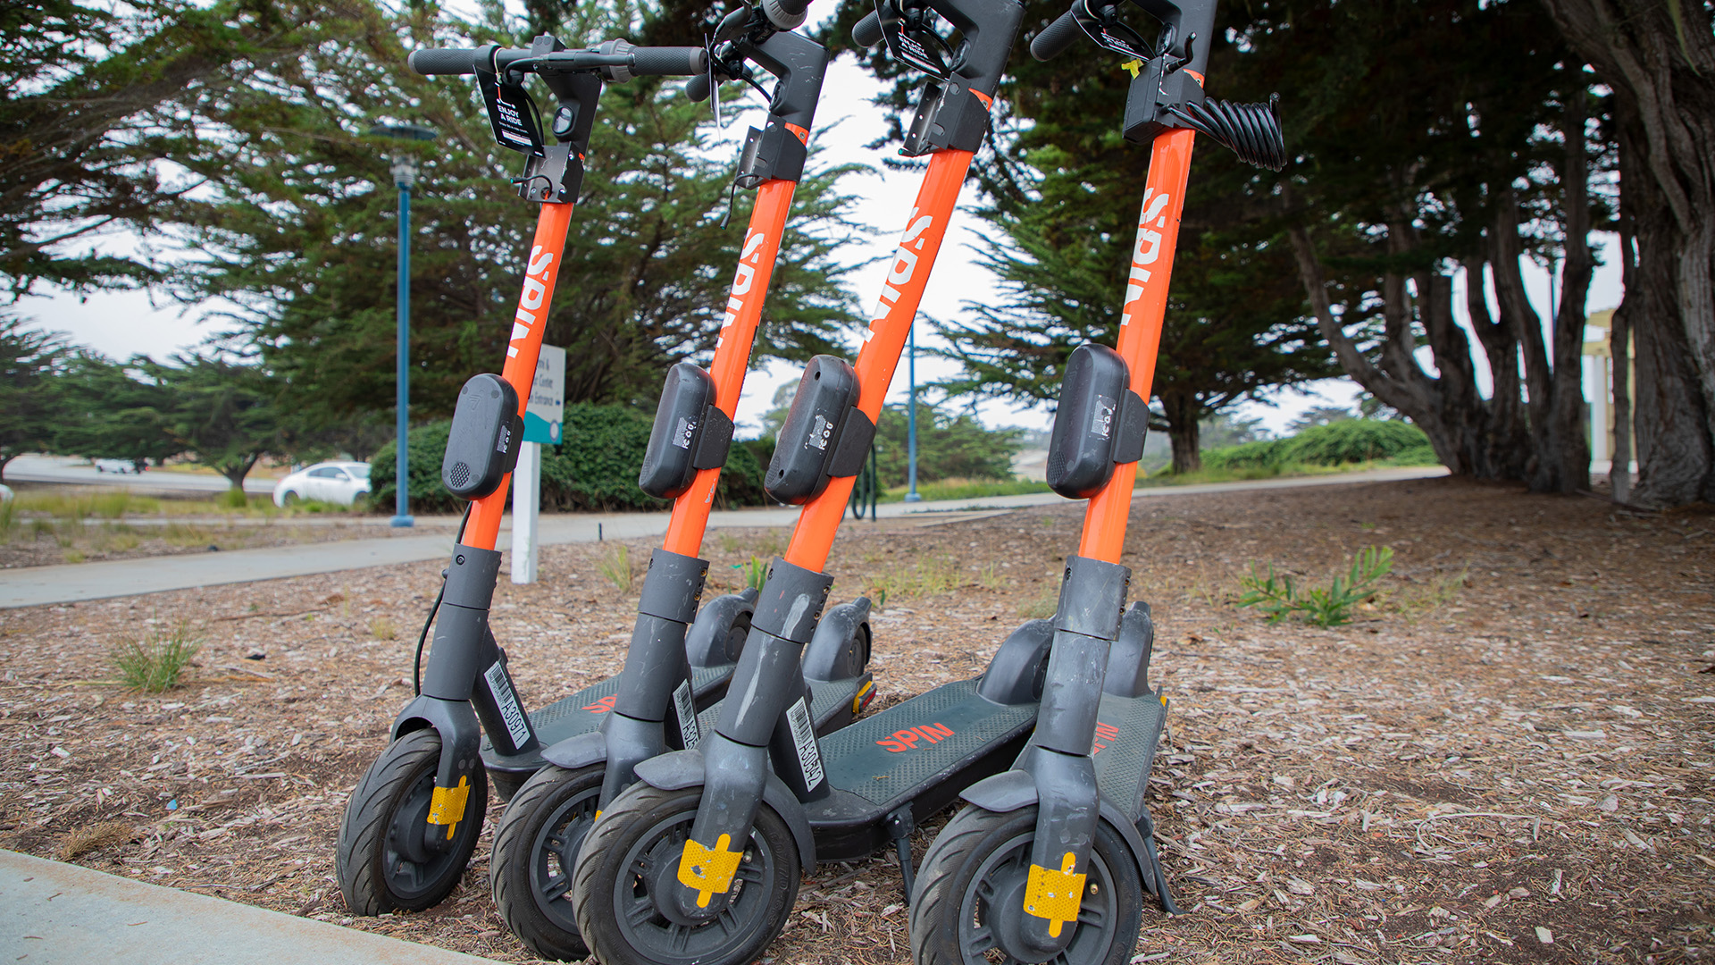
[{"label": "second orange SPIN scooter from left, front wheel partly hidden", "polygon": [[[617,678],[617,690],[607,687],[599,730],[585,723],[588,707],[576,719],[585,726],[575,735],[566,735],[563,725],[542,726],[549,745],[530,764],[545,761],[547,766],[511,798],[494,833],[489,862],[494,901],[513,934],[545,958],[588,955],[566,895],[583,836],[597,812],[636,780],[633,768],[638,762],[696,747],[701,731],[713,726],[712,719],[698,723],[693,675],[698,668],[731,666],[737,659],[756,599],[756,591],[746,591],[705,606],[707,615],[731,601],[725,604],[743,610],[743,620],[724,620],[720,625],[729,630],[722,639],[693,637],[688,658],[686,620],[695,613],[707,568],[696,553],[830,60],[823,46],[780,31],[777,14],[770,7],[741,7],[729,14],[710,43],[710,72],[686,84],[693,100],[715,98],[719,112],[717,82],[755,82],[749,64],[779,81],[767,124],[751,129],[739,161],[737,185],[756,187],[758,196],[715,361],[708,373],[689,362],[674,366],[655,414],[641,486],[676,501],[665,544],[650,558],[643,580],[626,670]],[[808,718],[816,733],[851,723],[875,694],[866,671],[868,610],[868,601],[833,608],[809,642],[806,673],[811,680],[797,682],[797,689],[809,685]],[[698,625],[703,622],[700,618]],[[719,646],[720,652],[708,652],[710,646]],[[593,704],[585,697],[578,702]],[[713,714],[708,709],[701,716]],[[564,737],[554,742],[551,735]],[[489,771],[494,769],[490,759]]]}]

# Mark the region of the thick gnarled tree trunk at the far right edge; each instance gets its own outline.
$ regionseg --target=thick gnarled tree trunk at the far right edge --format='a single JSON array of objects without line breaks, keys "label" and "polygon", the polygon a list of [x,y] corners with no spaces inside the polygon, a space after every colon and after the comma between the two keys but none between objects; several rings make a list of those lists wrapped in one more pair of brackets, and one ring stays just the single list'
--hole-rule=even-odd
[{"label": "thick gnarled tree trunk at the far right edge", "polygon": [[1715,36],[1703,2],[1544,0],[1614,89],[1638,240],[1633,500],[1715,501]]}]

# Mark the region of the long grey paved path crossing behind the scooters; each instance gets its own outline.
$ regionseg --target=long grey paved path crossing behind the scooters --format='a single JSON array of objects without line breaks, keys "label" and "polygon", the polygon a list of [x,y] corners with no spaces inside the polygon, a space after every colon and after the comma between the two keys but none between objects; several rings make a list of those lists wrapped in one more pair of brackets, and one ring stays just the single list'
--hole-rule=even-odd
[{"label": "long grey paved path crossing behind the scooters", "polygon": [[[1264,489],[1295,489],[1305,486],[1351,486],[1358,482],[1387,482],[1398,479],[1427,479],[1446,476],[1442,467],[1399,467],[1341,476],[1305,476],[1297,479],[1261,479],[1254,482],[1209,482],[1202,486],[1159,486],[1137,489],[1134,500],[1159,500],[1192,493],[1255,493]],[[878,508],[883,519],[916,517],[918,513],[972,513],[983,510],[1014,510],[1065,501],[1053,493],[1026,493],[1019,496],[984,496],[976,500],[945,500],[924,503],[885,503]],[[933,517],[931,517],[933,519]],[[756,508],[717,512],[708,519],[710,529],[720,527],[772,527],[792,525],[797,508]],[[928,519],[924,520],[928,522]],[[856,525],[847,522],[847,525]],[[667,513],[568,513],[545,515],[539,524],[544,546],[557,543],[593,543],[595,539],[631,539],[660,536],[667,531]],[[501,549],[509,548],[508,529],[501,531]],[[146,560],[110,560],[99,563],[70,563],[60,567],[26,567],[0,570],[0,608],[39,606],[48,603],[74,603],[111,596],[137,596],[201,586],[240,584],[309,574],[360,570],[364,567],[389,567],[436,560],[453,549],[451,527],[434,532],[393,536],[388,539],[348,539],[340,543],[310,543],[269,549],[233,549],[226,553],[196,553],[185,556],[151,556]]]}]

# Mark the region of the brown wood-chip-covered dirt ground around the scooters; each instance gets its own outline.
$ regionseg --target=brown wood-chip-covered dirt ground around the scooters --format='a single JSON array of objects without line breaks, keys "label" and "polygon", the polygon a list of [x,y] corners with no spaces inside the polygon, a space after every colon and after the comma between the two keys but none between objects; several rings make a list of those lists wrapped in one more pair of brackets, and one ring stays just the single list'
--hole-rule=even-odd
[{"label": "brown wood-chip-covered dirt ground around the scooters", "polygon": [[[1051,606],[1079,524],[1070,503],[847,524],[835,598],[888,589],[885,697],[978,673]],[[784,536],[717,532],[713,582],[741,584],[734,567]],[[1370,544],[1394,570],[1351,625],[1231,604],[1252,561],[1326,580]],[[1146,908],[1132,962],[1715,958],[1708,512],[1451,479],[1171,495],[1137,505],[1127,548],[1173,702],[1151,807],[1187,912]],[[641,572],[648,548],[628,549]],[[636,584],[599,575],[614,553],[551,548],[544,582],[502,580],[496,634],[532,706],[619,670]],[[0,613],[0,847],[528,960],[490,903],[487,843],[424,913],[352,919],[333,881],[340,810],[410,695],[437,570]],[[180,620],[206,639],[187,685],[106,682],[117,642]],[[907,948],[897,862],[878,855],[808,874],[770,956]]]}]

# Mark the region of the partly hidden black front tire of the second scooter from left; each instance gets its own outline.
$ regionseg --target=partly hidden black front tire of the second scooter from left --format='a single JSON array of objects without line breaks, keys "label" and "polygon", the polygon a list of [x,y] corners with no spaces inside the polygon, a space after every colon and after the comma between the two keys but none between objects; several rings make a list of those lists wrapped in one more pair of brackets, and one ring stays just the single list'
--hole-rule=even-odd
[{"label": "partly hidden black front tire of the second scooter from left", "polygon": [[595,819],[605,773],[604,764],[542,768],[494,828],[494,905],[518,941],[542,958],[580,962],[590,955],[571,910],[571,860]]}]

